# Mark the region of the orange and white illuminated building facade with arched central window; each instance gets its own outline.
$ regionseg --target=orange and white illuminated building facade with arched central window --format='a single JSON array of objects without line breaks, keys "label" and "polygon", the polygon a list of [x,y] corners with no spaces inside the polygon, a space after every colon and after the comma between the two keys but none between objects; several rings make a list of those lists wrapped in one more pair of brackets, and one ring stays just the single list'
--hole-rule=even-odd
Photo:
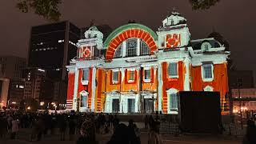
[{"label": "orange and white illuminated building facade with arched central window", "polygon": [[214,38],[190,40],[177,12],[155,33],[129,23],[103,42],[96,26],[78,41],[70,61],[66,109],[106,113],[178,114],[178,91],[219,91],[222,111],[228,92],[230,52]]}]

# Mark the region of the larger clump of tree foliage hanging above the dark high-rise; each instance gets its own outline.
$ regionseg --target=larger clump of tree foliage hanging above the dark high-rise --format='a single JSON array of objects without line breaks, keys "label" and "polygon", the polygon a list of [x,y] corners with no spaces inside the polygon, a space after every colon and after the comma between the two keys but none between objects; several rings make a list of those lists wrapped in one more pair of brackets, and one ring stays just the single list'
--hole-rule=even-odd
[{"label": "larger clump of tree foliage hanging above the dark high-rise", "polygon": [[41,15],[50,21],[58,21],[61,13],[58,10],[58,5],[62,0],[18,0],[17,7],[23,13],[33,11],[34,14]]}]

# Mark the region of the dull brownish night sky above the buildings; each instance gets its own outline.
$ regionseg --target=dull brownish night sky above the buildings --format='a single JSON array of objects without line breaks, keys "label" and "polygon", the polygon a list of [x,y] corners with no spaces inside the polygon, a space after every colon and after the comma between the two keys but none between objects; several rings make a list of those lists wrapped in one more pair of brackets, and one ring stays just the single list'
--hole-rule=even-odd
[{"label": "dull brownish night sky above the buildings", "polygon": [[[0,1],[0,54],[26,58],[30,27],[47,23],[33,14],[23,14],[18,0]],[[206,38],[213,30],[230,43],[232,58],[238,70],[255,70],[256,14],[255,0],[221,0],[210,10],[194,11],[188,0],[65,0],[60,6],[62,20],[78,27],[95,23],[112,28],[135,20],[154,31],[175,7],[187,19],[192,39]]]}]

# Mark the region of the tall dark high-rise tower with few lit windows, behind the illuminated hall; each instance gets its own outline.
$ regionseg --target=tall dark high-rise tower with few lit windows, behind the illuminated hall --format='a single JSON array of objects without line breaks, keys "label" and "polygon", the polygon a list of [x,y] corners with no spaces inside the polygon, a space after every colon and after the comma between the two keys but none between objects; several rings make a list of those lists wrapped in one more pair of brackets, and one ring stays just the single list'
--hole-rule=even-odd
[{"label": "tall dark high-rise tower with few lit windows, behind the illuminated hall", "polygon": [[66,65],[77,54],[80,30],[65,21],[33,26],[30,31],[28,67],[46,70],[46,77],[65,80]]}]

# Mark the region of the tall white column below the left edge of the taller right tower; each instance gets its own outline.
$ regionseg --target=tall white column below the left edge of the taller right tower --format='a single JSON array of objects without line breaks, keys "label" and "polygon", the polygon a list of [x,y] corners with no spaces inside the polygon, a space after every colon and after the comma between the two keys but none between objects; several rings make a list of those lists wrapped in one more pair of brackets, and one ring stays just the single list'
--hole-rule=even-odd
[{"label": "tall white column below the left edge of the taller right tower", "polygon": [[158,62],[158,111],[162,111],[162,62]]}]

